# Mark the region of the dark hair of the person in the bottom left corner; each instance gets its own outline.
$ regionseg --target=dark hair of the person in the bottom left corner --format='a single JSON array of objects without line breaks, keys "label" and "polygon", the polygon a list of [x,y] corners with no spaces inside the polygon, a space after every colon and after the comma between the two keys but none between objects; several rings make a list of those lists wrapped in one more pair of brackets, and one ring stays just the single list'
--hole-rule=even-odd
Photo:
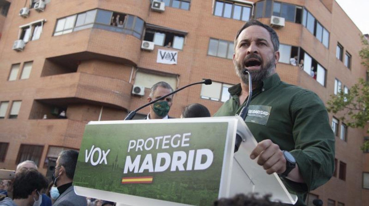
[{"label": "dark hair of the person in the bottom left corner", "polygon": [[35,189],[41,194],[41,191],[47,188],[47,186],[47,179],[36,169],[22,168],[15,174],[13,198],[26,199]]}]

